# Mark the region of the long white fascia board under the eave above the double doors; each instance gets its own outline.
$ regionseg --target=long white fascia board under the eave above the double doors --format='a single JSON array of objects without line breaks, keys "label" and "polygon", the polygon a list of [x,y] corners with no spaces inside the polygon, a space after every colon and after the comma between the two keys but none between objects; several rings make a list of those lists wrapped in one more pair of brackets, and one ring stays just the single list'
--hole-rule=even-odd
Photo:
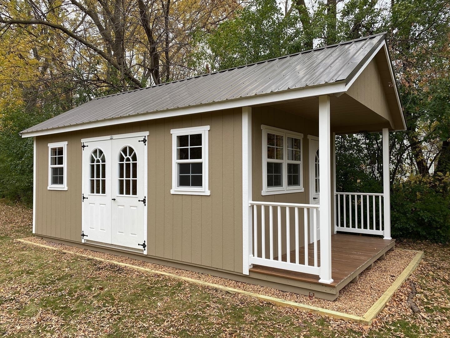
[{"label": "long white fascia board under the eave above the double doors", "polygon": [[50,135],[57,133],[65,133],[68,131],[77,131],[84,130],[90,128],[99,128],[104,126],[113,126],[117,124],[124,123],[132,123],[132,122],[141,122],[148,120],[157,120],[166,117],[176,117],[182,115],[190,115],[190,114],[198,114],[198,113],[207,113],[213,112],[217,110],[225,110],[225,109],[233,109],[233,108],[241,108],[246,106],[254,106],[258,104],[269,104],[276,103],[279,101],[292,100],[292,99],[302,99],[306,97],[312,96],[320,96],[320,95],[333,95],[339,94],[347,91],[345,82],[336,82],[331,84],[325,84],[322,86],[314,86],[314,87],[303,87],[297,90],[285,90],[283,92],[274,92],[266,95],[253,95],[246,98],[234,99],[234,100],[226,100],[220,101],[210,104],[202,104],[197,106],[189,106],[171,110],[165,110],[161,112],[154,113],[144,113],[144,114],[135,114],[125,117],[116,117],[108,120],[100,120],[94,122],[86,122],[82,124],[76,124],[72,126],[64,126],[59,128],[41,130],[41,131],[30,131],[26,133],[22,133],[22,137],[33,137],[33,136],[41,136],[41,135]]}]

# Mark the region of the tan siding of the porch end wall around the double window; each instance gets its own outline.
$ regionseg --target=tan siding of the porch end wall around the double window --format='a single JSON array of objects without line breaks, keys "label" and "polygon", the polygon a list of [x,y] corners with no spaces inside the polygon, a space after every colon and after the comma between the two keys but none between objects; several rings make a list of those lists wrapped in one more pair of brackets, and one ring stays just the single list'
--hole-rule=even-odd
[{"label": "tan siding of the porch end wall around the double window", "polygon": [[[302,193],[287,193],[287,194],[274,194],[274,195],[261,195],[262,190],[262,130],[261,125],[273,126],[281,128],[287,131],[294,131],[303,134],[302,144],[302,177],[304,192]],[[277,202],[277,203],[310,203],[309,192],[309,140],[308,135],[318,135],[319,126],[317,122],[308,120],[302,116],[291,114],[279,110],[277,108],[264,106],[253,108],[252,111],[252,198],[254,201],[261,202]],[[277,208],[273,208],[274,229],[277,228]],[[281,224],[286,224],[285,208],[281,209]],[[258,207],[258,214],[260,215]],[[291,208],[290,214],[290,248],[295,248],[295,231],[294,231],[294,210]],[[266,207],[266,257],[269,255],[269,209]],[[258,217],[258,224],[261,226],[261,217]],[[303,246],[304,234],[303,234],[303,209],[299,209],[299,244]],[[282,254],[286,253],[285,237],[286,228],[282,227]],[[278,233],[274,231],[274,242],[278,241]],[[258,233],[258,240],[261,242],[261,233]],[[274,248],[276,251],[276,248]],[[261,255],[261,245],[258,247],[258,254]],[[274,253],[275,256],[278,252]],[[259,256],[261,257],[261,256]]]}]

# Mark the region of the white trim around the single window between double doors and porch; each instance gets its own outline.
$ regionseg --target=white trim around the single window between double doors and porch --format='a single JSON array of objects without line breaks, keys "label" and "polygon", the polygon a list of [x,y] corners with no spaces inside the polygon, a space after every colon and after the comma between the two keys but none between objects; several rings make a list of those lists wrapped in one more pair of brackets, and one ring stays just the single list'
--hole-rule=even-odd
[{"label": "white trim around the single window between double doors and porch", "polygon": [[[211,195],[209,191],[209,151],[208,151],[208,131],[210,126],[199,126],[189,128],[172,129],[172,189],[171,194],[184,194],[184,195]],[[202,161],[189,160],[187,162],[202,162],[202,187],[178,187],[177,185],[177,159],[176,159],[176,138],[181,135],[189,134],[202,134]]]}]

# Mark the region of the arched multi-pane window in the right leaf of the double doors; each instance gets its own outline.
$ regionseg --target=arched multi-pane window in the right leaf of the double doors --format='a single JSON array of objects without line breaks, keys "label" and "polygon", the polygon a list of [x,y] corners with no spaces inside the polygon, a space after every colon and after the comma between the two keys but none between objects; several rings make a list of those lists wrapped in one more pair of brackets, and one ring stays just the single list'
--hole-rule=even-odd
[{"label": "arched multi-pane window in the right leaf of the double doors", "polygon": [[129,145],[119,152],[118,161],[118,194],[137,196],[138,194],[138,159],[135,149]]}]

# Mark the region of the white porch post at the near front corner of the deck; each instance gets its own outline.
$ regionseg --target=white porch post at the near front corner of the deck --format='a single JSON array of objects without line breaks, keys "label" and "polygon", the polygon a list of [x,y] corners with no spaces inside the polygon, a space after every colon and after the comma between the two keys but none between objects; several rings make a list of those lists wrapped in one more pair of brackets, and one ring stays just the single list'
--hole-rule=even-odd
[{"label": "white porch post at the near front corner of the deck", "polygon": [[[330,284],[331,278],[331,140],[330,98],[319,96],[319,154],[320,154],[320,280]],[[333,223],[334,224],[334,223]]]}]

